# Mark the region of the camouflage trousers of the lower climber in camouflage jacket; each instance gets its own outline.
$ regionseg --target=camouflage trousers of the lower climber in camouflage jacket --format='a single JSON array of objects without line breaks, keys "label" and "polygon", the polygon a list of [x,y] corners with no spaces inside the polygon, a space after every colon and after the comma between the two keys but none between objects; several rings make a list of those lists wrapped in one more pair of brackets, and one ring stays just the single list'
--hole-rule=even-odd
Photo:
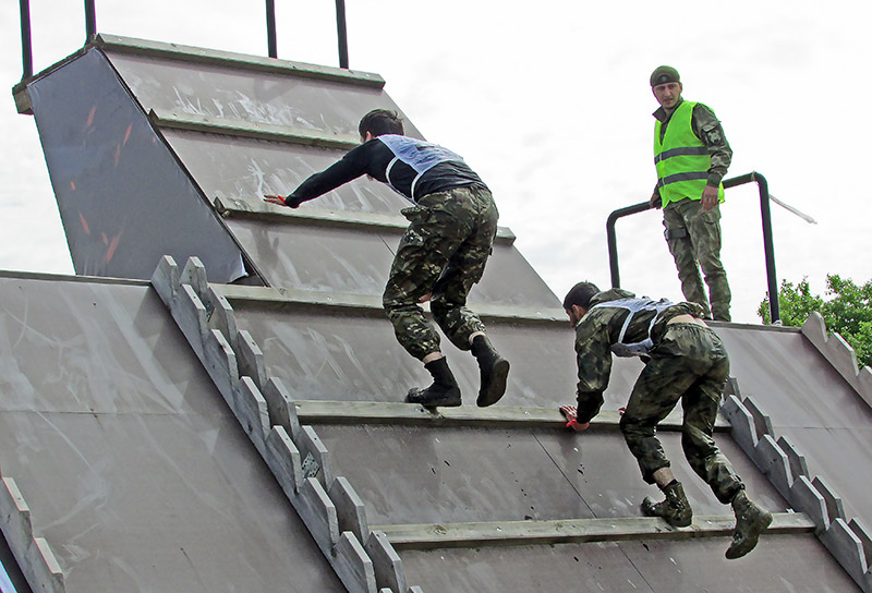
[{"label": "camouflage trousers of the lower climber in camouflage jacket", "polygon": [[680,399],[685,410],[681,447],[690,467],[724,504],[744,488],[712,437],[728,374],[729,358],[714,331],[697,324],[667,326],[620,420],[623,438],[645,482],[653,484],[654,472],[669,467],[656,431]]}]

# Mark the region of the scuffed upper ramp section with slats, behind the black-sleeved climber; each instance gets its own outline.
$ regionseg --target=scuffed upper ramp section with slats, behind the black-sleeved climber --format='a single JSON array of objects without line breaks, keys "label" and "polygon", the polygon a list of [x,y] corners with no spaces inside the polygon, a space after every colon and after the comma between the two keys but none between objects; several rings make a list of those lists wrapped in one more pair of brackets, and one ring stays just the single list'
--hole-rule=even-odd
[{"label": "scuffed upper ramp section with slats, behind the black-sleeved climber", "polygon": [[[264,194],[288,195],[356,146],[367,111],[402,116],[380,77],[280,61],[269,68],[244,57],[204,64],[194,48],[152,52],[147,41],[107,39],[108,60],[202,194],[231,206],[242,201],[243,210],[259,205],[254,220],[234,207],[221,214],[266,285],[380,295],[408,225],[399,214],[411,205],[407,199],[361,178],[293,213],[262,202]],[[408,118],[404,126],[407,135],[422,137]],[[290,219],[323,210],[330,215],[316,227]],[[361,223],[360,214],[389,225]],[[470,302],[559,305],[513,237],[502,234]]]}]

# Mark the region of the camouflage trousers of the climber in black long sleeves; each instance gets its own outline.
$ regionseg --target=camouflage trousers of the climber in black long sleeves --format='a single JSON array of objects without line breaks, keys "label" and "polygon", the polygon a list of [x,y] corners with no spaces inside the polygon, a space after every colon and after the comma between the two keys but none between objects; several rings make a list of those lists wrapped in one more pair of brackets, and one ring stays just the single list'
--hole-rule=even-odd
[{"label": "camouflage trousers of the climber in black long sleeves", "polygon": [[456,187],[425,195],[402,210],[411,222],[400,240],[382,302],[400,344],[421,360],[439,350],[439,335],[419,303],[431,294],[431,312],[451,343],[470,349],[484,331],[467,308],[472,286],[482,279],[497,232],[499,213],[491,192]]}]

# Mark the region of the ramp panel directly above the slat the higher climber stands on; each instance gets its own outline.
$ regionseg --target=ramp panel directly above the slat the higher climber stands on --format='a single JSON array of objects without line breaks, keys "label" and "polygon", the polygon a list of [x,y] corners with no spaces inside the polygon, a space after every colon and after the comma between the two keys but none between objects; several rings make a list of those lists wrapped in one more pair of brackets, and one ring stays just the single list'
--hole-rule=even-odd
[{"label": "ramp panel directly above the slat the higher climber stands on", "polygon": [[[380,310],[351,315],[329,307],[237,303],[233,308],[238,326],[249,330],[263,350],[267,374],[280,378],[295,399],[402,401],[410,388],[432,380],[423,365],[399,346]],[[569,323],[521,325],[485,319],[485,324],[496,348],[511,362],[500,404],[559,407],[574,401],[578,379]],[[480,383],[475,359],[445,337],[441,348],[464,401],[473,402]],[[627,403],[640,370],[638,361],[616,361],[606,409]]]}]

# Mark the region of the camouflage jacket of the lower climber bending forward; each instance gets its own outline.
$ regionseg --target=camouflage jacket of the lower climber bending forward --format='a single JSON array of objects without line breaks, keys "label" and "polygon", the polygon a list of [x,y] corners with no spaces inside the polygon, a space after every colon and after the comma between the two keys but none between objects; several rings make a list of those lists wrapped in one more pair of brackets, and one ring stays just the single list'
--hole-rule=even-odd
[{"label": "camouflage jacket of the lower climber bending forward", "polygon": [[[576,362],[578,363],[578,421],[590,420],[603,406],[603,392],[611,375],[611,346],[618,343],[621,328],[630,314],[626,308],[594,306],[619,299],[632,299],[635,294],[627,290],[610,289],[597,292],[591,300],[584,317],[576,325]],[[654,347],[666,334],[666,324],[678,315],[701,317],[703,310],[695,303],[676,303],[662,312],[651,325],[654,311],[637,313],[623,335],[625,343],[641,342],[649,337]]]}]

